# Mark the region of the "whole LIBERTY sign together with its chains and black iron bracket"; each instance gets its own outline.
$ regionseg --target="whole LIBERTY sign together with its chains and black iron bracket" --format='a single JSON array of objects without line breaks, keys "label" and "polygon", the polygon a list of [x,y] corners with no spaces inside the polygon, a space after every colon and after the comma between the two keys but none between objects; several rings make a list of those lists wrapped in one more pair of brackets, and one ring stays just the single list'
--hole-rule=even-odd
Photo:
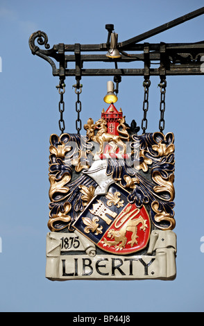
[{"label": "whole LIBERTY sign together with its chains and black iron bracket", "polygon": [[[124,42],[118,42],[112,24],[105,25],[108,39],[101,44],[51,48],[43,31],[29,38],[33,55],[46,60],[60,79],[61,133],[51,135],[49,147],[49,280],[175,279],[174,136],[164,134],[166,78],[203,75],[204,43],[141,42],[203,14],[204,7]],[[84,67],[86,62],[111,67]],[[134,65],[121,68],[120,63]],[[116,87],[108,82],[105,108],[96,121],[87,117],[83,124],[80,80],[85,76],[112,76]],[[119,83],[126,76],[144,77],[142,134],[134,119],[130,126],[126,122],[126,108],[117,107]],[[158,131],[147,132],[152,76],[160,77],[160,121]],[[68,77],[76,80],[76,133],[65,132]]]}]

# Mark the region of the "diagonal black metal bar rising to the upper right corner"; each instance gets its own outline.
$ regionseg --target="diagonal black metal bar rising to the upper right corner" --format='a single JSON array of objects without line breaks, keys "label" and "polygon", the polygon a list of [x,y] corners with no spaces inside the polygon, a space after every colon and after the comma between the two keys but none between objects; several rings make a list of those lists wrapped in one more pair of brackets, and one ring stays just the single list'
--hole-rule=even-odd
[{"label": "diagonal black metal bar rising to the upper right corner", "polygon": [[181,16],[177,19],[173,19],[171,20],[171,22],[163,24],[161,26],[158,26],[156,28],[151,29],[148,32],[142,33],[140,35],[137,35],[136,37],[130,38],[129,40],[126,40],[124,42],[121,42],[119,44],[119,50],[120,49],[124,49],[124,47],[133,44],[133,43],[137,43],[137,42],[141,42],[143,40],[146,40],[148,37],[157,35],[158,33],[162,33],[164,31],[167,31],[169,28],[172,28],[174,26],[178,26],[179,24],[182,24],[184,22],[187,22],[190,19],[193,19],[195,17],[198,17],[200,15],[203,15],[204,13],[204,7],[194,10],[192,12],[189,12],[187,15]]}]

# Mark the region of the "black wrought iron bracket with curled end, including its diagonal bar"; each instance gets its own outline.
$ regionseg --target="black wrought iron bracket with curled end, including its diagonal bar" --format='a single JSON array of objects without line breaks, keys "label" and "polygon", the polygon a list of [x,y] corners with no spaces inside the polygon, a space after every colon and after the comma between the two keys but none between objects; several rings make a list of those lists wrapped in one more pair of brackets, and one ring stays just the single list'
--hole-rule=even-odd
[{"label": "black wrought iron bracket with curled end, including its diagonal bar", "polygon": [[[117,83],[121,76],[176,76],[176,75],[203,75],[201,71],[201,57],[204,55],[204,41],[196,43],[139,43],[142,40],[162,33],[169,28],[182,24],[189,19],[203,15],[204,7],[189,14],[174,19],[173,21],[153,28],[153,30],[137,35],[130,40],[117,44],[121,58],[108,58],[110,35],[114,31],[112,24],[105,25],[108,30],[108,40],[101,44],[55,44],[50,49],[46,33],[37,31],[29,38],[29,46],[33,55],[43,58],[52,67],[53,76],[65,79],[67,76],[75,76],[77,82],[82,76],[114,76]],[[37,40],[37,45],[35,41]],[[44,46],[45,49],[40,49]],[[73,54],[71,54],[71,52]],[[90,54],[83,54],[90,53]],[[94,54],[94,52],[101,54]],[[128,53],[128,52],[131,52]],[[132,53],[134,52],[134,53]],[[56,63],[58,62],[58,68]],[[70,62],[75,62],[75,69],[70,69]],[[114,63],[114,68],[87,69],[83,68],[85,62],[106,62],[107,65]],[[144,68],[128,67],[120,68],[120,62],[130,65],[132,62],[144,62]],[[134,65],[135,66],[135,65]],[[202,69],[203,70],[203,69]]]}]

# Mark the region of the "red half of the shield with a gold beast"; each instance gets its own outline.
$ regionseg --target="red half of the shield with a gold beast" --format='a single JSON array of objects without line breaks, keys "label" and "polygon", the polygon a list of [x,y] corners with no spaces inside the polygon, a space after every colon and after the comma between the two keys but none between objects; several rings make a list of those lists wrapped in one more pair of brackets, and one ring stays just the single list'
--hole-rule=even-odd
[{"label": "red half of the shield with a gold beast", "polygon": [[99,248],[118,255],[127,255],[146,247],[151,222],[144,206],[126,205],[97,243]]}]

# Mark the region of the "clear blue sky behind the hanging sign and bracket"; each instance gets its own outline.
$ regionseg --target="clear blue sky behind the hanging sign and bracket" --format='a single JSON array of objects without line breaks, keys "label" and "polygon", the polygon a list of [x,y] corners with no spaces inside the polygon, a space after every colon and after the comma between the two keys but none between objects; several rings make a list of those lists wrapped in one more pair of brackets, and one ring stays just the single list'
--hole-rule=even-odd
[{"label": "clear blue sky behind the hanging sign and bracket", "polygon": [[[49,136],[58,129],[58,78],[31,54],[28,38],[41,30],[49,44],[99,44],[105,24],[119,42],[201,8],[203,1],[0,1],[0,311],[204,311],[203,76],[167,78],[164,132],[175,135],[177,277],[172,282],[51,282],[45,274],[49,218]],[[148,39],[199,42],[204,15]],[[136,64],[135,64],[136,65]],[[136,67],[136,66],[135,66]],[[83,124],[99,119],[110,78],[81,80]],[[117,108],[141,125],[143,78],[124,77]],[[65,131],[75,132],[74,78],[66,79]],[[160,89],[151,78],[148,132],[158,131]]]}]

